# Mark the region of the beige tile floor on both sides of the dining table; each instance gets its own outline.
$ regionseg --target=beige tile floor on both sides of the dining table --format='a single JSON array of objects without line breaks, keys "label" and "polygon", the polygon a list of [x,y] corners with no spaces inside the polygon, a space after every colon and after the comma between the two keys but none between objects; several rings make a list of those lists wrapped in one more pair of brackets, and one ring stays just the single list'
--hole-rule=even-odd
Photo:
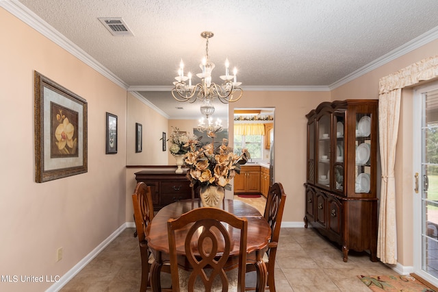
[{"label": "beige tile floor on both sides of the dining table", "polygon": [[[140,251],[134,228],[124,230],[61,291],[139,291]],[[358,275],[397,275],[368,254],[342,252],[312,228],[282,228],[276,255],[276,291],[370,291]]]}]

